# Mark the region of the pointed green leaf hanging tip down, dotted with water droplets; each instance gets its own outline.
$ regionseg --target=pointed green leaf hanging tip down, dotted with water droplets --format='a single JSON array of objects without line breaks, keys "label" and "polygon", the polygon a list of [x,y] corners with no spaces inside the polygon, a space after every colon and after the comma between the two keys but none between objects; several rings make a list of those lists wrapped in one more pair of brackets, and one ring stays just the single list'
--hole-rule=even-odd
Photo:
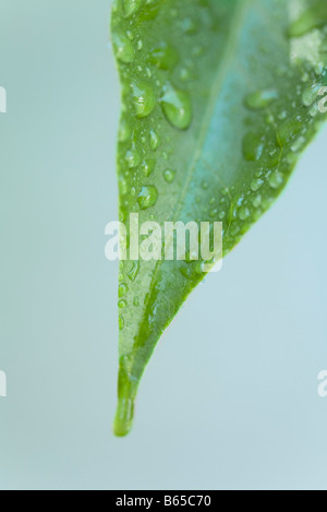
[{"label": "pointed green leaf hanging tip down, dotted with water droplets", "polygon": [[[120,221],[221,221],[227,254],[326,120],[326,23],[325,0],[116,1]],[[121,262],[117,436],[201,263]]]}]

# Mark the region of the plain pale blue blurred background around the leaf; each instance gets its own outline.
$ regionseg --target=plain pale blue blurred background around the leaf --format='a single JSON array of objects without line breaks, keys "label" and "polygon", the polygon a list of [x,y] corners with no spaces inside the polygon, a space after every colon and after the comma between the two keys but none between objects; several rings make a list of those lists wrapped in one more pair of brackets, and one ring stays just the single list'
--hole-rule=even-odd
[{"label": "plain pale blue blurred background around the leaf", "polygon": [[164,336],[116,439],[109,0],[0,0],[1,489],[327,489],[327,131]]}]

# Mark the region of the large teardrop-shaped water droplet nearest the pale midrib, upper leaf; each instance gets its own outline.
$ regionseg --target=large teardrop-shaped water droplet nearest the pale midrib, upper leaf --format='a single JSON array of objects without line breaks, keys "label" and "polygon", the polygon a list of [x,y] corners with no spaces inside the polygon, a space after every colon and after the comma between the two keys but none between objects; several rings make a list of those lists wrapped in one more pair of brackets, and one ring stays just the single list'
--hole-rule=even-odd
[{"label": "large teardrop-shaped water droplet nearest the pale midrib, upper leaf", "polygon": [[192,121],[192,104],[187,93],[166,85],[160,99],[168,121],[179,130],[186,130]]}]

